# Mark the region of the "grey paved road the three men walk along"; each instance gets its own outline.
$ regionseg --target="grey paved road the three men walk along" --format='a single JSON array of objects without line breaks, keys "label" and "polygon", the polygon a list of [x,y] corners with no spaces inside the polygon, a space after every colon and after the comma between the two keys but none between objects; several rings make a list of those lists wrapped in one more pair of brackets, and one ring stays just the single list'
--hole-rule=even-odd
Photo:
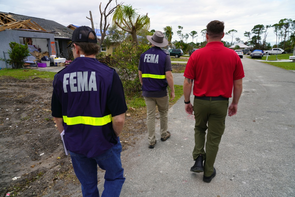
[{"label": "grey paved road the three men walk along", "polygon": [[145,133],[136,147],[122,152],[122,197],[294,196],[295,73],[248,58],[242,63],[246,76],[238,113],[226,119],[212,182],[189,171],[194,118],[184,112],[182,97],[169,109],[170,139],[160,141],[157,122],[154,149],[148,149]]}]

